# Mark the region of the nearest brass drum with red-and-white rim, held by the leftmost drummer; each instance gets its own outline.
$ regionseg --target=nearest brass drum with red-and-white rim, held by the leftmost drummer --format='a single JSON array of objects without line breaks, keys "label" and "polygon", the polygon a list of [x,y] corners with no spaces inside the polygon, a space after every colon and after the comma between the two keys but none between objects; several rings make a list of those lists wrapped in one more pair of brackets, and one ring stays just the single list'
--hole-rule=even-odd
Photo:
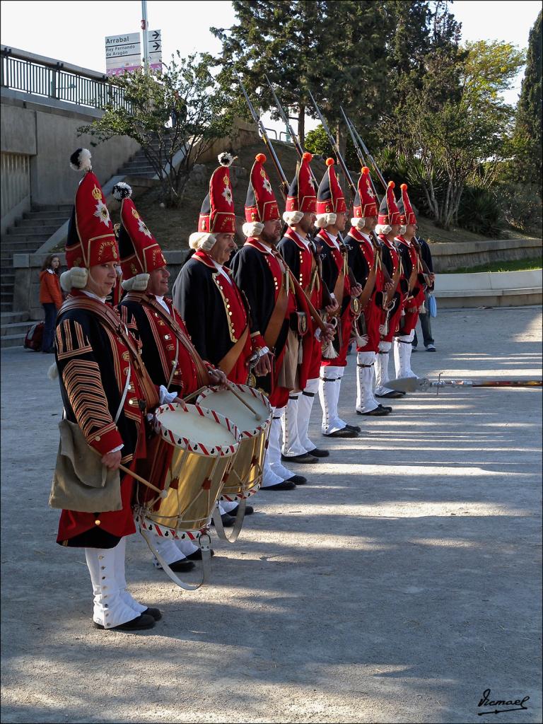
[{"label": "nearest brass drum with red-and-white rim, held by the leftmost drummer", "polygon": [[135,518],[144,531],[198,539],[205,531],[223,479],[239,449],[235,424],[200,405],[162,405],[156,436],[137,472],[162,493],[135,487]]}]

